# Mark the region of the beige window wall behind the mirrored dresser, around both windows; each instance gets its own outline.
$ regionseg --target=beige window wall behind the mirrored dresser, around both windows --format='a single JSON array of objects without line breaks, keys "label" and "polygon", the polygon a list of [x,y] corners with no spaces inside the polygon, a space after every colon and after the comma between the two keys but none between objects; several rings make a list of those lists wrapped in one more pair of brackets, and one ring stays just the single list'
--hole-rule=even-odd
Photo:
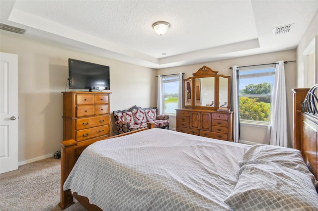
[{"label": "beige window wall behind the mirrored dresser, around both windows", "polygon": [[[279,60],[294,61],[296,60],[296,50],[264,53],[251,56],[242,56],[237,58],[206,62],[201,64],[193,64],[187,66],[166,68],[157,70],[157,74],[174,74],[184,72],[184,78],[192,77],[192,73],[195,73],[202,66],[206,65],[214,71],[219,71],[218,74],[232,77],[232,70],[229,67],[233,65],[245,66],[253,64],[266,64],[273,63]],[[296,87],[296,62],[290,62],[285,64],[285,78],[286,78],[286,92],[287,92],[287,122],[288,122],[288,135],[289,146],[292,147],[293,137],[293,92],[292,89]],[[170,127],[175,128],[175,116],[170,115]],[[264,127],[256,128],[255,126],[243,125],[241,127],[241,140],[255,143],[266,143],[265,134],[266,129]]]}]

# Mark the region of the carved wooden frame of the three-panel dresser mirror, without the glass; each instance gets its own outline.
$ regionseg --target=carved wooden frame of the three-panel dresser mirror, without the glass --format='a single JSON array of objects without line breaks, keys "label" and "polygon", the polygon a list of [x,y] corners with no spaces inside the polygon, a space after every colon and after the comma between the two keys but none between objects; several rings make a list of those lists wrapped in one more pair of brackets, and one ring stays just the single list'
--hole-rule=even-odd
[{"label": "carved wooden frame of the three-panel dresser mirror, without the glass", "polygon": [[[230,105],[231,105],[231,76],[225,76],[225,75],[218,75],[218,71],[214,71],[211,68],[207,67],[207,66],[203,66],[200,69],[198,69],[197,72],[192,73],[193,77],[189,77],[183,80],[183,101],[185,101],[185,83],[188,80],[192,81],[192,87],[191,87],[191,105],[185,105],[185,102],[183,102],[183,107],[187,107],[187,108],[197,108],[197,109],[209,109],[209,110],[230,110]],[[214,77],[215,78],[215,83],[214,83],[214,102],[215,105],[214,107],[211,106],[196,106],[196,95],[195,95],[195,83],[196,83],[196,79],[199,78],[207,78],[207,77]],[[227,78],[228,79],[228,106],[227,107],[219,107],[219,98],[220,98],[220,85],[219,85],[219,81],[220,81],[220,77],[223,78]]]}]

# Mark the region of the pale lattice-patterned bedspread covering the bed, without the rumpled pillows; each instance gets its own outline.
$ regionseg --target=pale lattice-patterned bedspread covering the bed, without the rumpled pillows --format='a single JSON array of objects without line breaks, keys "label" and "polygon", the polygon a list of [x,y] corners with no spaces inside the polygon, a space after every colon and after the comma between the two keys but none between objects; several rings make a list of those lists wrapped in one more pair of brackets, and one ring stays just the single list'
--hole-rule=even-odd
[{"label": "pale lattice-patterned bedspread covering the bed, without the rumpled pillows", "polygon": [[230,210],[246,145],[163,129],[99,141],[64,190],[107,211]]}]

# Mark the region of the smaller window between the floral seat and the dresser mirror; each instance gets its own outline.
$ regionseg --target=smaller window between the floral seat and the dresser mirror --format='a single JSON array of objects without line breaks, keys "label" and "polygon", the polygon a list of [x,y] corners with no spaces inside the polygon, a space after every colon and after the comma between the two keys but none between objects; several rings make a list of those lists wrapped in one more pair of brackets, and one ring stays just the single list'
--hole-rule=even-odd
[{"label": "smaller window between the floral seat and the dresser mirror", "polygon": [[163,113],[175,114],[179,99],[179,75],[162,76]]}]

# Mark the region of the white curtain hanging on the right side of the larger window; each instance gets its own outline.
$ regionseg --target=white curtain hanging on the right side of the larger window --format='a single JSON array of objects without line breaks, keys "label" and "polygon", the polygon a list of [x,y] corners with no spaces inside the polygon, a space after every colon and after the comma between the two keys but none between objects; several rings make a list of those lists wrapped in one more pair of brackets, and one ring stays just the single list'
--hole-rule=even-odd
[{"label": "white curtain hanging on the right side of the larger window", "polygon": [[287,147],[287,105],[284,61],[277,61],[272,97],[270,145]]}]

